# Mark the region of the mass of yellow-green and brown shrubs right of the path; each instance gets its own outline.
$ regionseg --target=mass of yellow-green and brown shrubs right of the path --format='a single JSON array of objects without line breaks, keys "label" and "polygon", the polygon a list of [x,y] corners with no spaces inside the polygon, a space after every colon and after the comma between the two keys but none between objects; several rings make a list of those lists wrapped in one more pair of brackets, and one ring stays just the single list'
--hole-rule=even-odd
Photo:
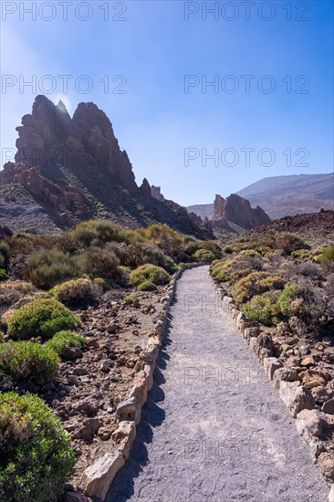
[{"label": "mass of yellow-green and brown shrubs right of the path", "polygon": [[266,326],[284,321],[316,334],[334,318],[334,246],[311,249],[297,235],[270,233],[223,248],[214,280],[226,283],[247,318]]}]

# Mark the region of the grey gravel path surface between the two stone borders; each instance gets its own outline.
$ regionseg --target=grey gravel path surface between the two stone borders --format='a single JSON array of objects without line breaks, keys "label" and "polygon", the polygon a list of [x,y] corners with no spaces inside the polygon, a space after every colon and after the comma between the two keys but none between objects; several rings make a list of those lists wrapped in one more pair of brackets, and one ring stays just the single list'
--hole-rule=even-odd
[{"label": "grey gravel path surface between the two stone borders", "polygon": [[208,267],[184,272],[130,460],[107,502],[325,502],[308,447]]}]

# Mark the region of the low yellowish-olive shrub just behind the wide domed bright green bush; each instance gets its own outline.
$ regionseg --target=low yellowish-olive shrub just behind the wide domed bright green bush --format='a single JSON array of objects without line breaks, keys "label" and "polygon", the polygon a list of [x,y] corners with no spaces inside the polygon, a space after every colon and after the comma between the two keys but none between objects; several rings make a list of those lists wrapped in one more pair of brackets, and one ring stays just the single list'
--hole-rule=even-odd
[{"label": "low yellowish-olive shrub just behind the wide domed bright green bush", "polygon": [[89,279],[79,278],[63,282],[50,289],[49,295],[57,298],[68,307],[86,305],[99,298],[102,292],[96,283]]}]

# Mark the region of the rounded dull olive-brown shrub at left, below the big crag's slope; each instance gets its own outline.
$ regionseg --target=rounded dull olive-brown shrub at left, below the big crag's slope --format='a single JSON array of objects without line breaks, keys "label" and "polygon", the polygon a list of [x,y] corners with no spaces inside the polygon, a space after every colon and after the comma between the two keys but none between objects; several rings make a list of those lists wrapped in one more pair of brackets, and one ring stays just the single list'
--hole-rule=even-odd
[{"label": "rounded dull olive-brown shrub at left, below the big crag's slope", "polygon": [[57,249],[39,249],[27,260],[30,281],[41,289],[49,289],[78,275],[75,263],[68,253]]}]

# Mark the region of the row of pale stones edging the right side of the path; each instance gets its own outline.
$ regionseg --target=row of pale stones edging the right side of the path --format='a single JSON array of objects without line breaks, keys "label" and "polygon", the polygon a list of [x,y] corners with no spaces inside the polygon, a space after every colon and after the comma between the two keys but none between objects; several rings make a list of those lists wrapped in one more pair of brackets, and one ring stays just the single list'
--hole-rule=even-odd
[{"label": "row of pale stones edging the right side of the path", "polygon": [[[210,272],[209,277],[214,280]],[[296,419],[297,433],[308,444],[314,463],[317,463],[318,455],[325,451],[318,436],[321,435],[325,424],[333,425],[333,415],[316,409],[312,394],[300,381],[289,381],[288,369],[284,368],[276,357],[272,357],[270,337],[266,333],[261,333],[260,324],[257,321],[247,320],[245,314],[237,309],[234,298],[222,288],[221,284],[214,282],[214,285],[223,305],[231,311],[236,328],[256,353],[267,377],[274,382],[280,398],[287,405],[292,417]],[[327,502],[334,502],[334,484],[330,484],[327,480],[326,482],[330,486]]]}]

